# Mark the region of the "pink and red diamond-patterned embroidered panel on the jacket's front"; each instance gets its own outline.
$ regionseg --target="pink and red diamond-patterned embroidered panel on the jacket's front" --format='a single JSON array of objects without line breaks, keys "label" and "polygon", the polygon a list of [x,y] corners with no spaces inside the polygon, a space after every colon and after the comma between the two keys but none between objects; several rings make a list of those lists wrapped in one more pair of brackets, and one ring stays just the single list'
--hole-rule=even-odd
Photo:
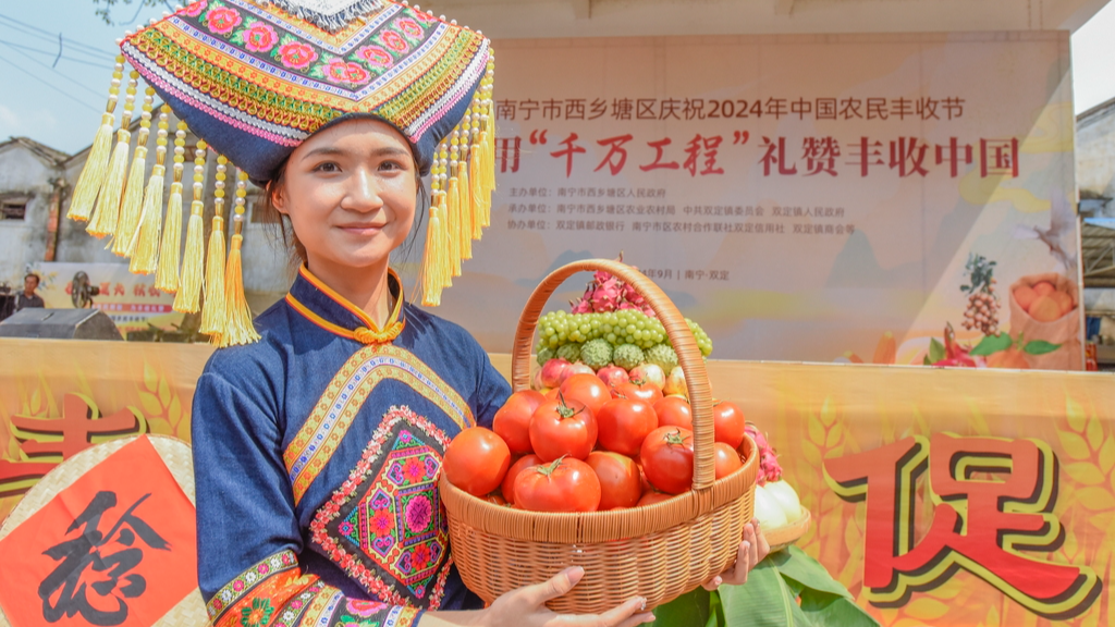
[{"label": "pink and red diamond-patterned embroidered panel on the jacket's front", "polygon": [[437,608],[452,568],[437,491],[449,438],[392,407],[349,479],[314,515],[311,540],[385,602]]}]

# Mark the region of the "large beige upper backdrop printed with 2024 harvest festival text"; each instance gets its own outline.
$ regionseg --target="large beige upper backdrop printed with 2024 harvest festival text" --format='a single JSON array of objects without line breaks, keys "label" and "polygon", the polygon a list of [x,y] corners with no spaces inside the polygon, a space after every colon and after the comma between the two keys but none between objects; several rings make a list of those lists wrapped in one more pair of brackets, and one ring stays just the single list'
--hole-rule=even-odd
[{"label": "large beige upper backdrop printed with 2024 harvest festival text", "polygon": [[[1067,32],[495,48],[492,228],[445,295],[489,350],[547,271],[622,251],[720,358],[922,364],[951,324],[1083,367]],[[1040,280],[1068,301],[1036,320],[1008,288]]]}]

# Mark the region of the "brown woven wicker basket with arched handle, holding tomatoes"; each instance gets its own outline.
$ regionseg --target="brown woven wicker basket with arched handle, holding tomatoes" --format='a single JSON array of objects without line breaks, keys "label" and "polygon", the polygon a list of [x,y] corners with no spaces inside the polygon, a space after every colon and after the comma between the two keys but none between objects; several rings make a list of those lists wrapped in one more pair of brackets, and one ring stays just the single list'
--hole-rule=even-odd
[{"label": "brown woven wicker basket with arched handle, holding tomatoes", "polygon": [[496,505],[454,488],[442,474],[453,559],[465,585],[491,602],[546,580],[571,566],[584,568],[573,590],[549,606],[571,614],[601,612],[634,596],[653,608],[726,570],[736,559],[744,523],[752,519],[758,455],[745,437],[744,466],[715,480],[712,396],[705,361],[677,308],[647,277],[623,263],[586,260],[555,270],[534,290],[518,320],[512,385],[530,382],[531,344],[546,299],[570,276],[604,270],[630,283],[666,327],[686,373],[694,414],[690,492],[649,507],[591,513],[541,513]]}]

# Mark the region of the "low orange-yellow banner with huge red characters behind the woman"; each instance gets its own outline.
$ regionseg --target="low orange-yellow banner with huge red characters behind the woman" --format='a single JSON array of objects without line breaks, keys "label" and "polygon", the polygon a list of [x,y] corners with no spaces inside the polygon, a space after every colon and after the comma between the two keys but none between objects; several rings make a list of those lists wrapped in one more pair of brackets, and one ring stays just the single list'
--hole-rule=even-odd
[{"label": "low orange-yellow banner with huge red characters behind the woman", "polygon": [[[0,339],[0,519],[90,441],[188,440],[211,351]],[[712,360],[709,376],[813,513],[801,547],[883,625],[1115,620],[1111,375]]]}]

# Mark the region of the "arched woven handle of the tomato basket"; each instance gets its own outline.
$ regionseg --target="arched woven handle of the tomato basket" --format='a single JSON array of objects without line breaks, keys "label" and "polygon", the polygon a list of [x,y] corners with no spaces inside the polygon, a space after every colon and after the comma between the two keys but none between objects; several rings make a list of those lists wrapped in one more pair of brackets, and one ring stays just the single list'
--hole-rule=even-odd
[{"label": "arched woven handle of the tomato basket", "polygon": [[[716,481],[715,425],[712,422],[712,389],[708,384],[708,372],[705,359],[697,348],[697,338],[678,308],[673,306],[666,292],[642,272],[627,263],[609,259],[585,259],[574,261],[554,270],[534,288],[526,300],[523,314],[515,329],[515,341],[511,354],[511,382],[515,390],[526,389],[531,380],[531,346],[539,316],[546,300],[565,279],[578,272],[594,272],[603,270],[631,284],[639,296],[643,297],[651,309],[658,314],[658,319],[666,327],[666,334],[678,354],[678,363],[686,373],[686,387],[689,389],[689,403],[694,413],[694,490],[704,490]],[[667,373],[669,374],[669,373]]]}]

